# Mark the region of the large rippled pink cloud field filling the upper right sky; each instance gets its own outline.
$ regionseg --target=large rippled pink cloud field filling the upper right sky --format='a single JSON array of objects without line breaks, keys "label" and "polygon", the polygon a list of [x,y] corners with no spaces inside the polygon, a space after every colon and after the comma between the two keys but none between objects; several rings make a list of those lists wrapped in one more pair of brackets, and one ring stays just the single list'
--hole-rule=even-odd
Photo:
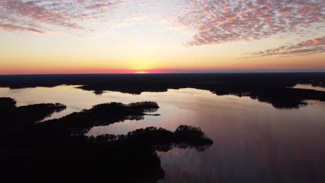
[{"label": "large rippled pink cloud field filling the upper right sky", "polygon": [[178,21],[197,30],[186,43],[188,46],[260,40],[301,29],[307,32],[313,24],[324,26],[324,3],[324,0],[183,0]]}]

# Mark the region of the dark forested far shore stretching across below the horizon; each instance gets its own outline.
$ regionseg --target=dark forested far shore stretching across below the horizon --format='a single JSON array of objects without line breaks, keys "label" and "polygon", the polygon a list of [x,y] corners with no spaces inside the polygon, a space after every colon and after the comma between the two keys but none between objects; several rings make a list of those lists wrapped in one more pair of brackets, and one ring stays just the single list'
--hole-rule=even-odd
[{"label": "dark forested far shore stretching across below the horizon", "polygon": [[325,92],[292,89],[297,84],[325,87],[325,73],[179,73],[179,74],[79,74],[0,76],[0,87],[55,87],[81,85],[102,94],[166,92],[167,89],[206,89],[217,95],[249,96],[276,108],[298,108],[306,100],[325,101]]}]

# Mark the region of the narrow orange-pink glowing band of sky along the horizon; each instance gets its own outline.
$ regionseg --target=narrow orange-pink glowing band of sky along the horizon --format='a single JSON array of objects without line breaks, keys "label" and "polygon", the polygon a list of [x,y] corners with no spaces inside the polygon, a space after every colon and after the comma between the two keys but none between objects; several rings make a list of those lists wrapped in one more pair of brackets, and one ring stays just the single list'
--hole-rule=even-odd
[{"label": "narrow orange-pink glowing band of sky along the horizon", "polygon": [[[323,67],[324,68],[324,67]],[[318,69],[318,70],[317,70]],[[213,72],[276,72],[276,71],[322,71],[317,64],[292,68],[290,64],[246,64],[230,67],[178,67],[172,69],[107,69],[78,67],[5,67],[0,69],[0,75],[6,74],[78,74],[78,73],[213,73]]]}]

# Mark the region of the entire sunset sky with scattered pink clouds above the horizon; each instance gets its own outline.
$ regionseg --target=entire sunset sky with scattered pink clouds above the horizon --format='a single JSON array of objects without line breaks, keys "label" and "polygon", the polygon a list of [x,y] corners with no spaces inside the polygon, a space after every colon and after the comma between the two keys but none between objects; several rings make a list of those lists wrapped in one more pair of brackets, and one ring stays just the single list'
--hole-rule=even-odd
[{"label": "entire sunset sky with scattered pink clouds above the horizon", "polygon": [[325,71],[325,0],[0,0],[0,74]]}]

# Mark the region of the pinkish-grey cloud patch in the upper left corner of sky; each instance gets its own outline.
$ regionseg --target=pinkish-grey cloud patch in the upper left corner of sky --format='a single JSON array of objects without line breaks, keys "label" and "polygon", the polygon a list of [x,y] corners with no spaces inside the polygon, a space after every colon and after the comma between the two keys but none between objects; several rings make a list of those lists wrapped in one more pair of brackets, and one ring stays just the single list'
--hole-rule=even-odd
[{"label": "pinkish-grey cloud patch in the upper left corner of sky", "polygon": [[[0,28],[44,33],[44,26],[65,29],[85,28],[79,23],[103,17],[105,12],[123,1],[103,0],[0,0]],[[28,26],[33,24],[33,26]]]}]

